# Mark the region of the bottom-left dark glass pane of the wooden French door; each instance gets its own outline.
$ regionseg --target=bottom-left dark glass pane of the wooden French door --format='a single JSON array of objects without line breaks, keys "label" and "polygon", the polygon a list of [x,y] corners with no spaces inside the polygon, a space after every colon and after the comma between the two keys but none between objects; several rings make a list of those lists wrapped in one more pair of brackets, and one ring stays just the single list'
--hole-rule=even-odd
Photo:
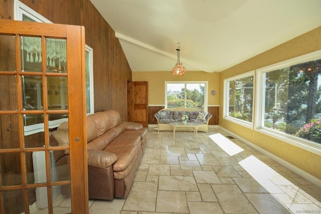
[{"label": "bottom-left dark glass pane of the wooden French door", "polygon": [[25,213],[24,195],[21,189],[1,191],[5,213]]}]

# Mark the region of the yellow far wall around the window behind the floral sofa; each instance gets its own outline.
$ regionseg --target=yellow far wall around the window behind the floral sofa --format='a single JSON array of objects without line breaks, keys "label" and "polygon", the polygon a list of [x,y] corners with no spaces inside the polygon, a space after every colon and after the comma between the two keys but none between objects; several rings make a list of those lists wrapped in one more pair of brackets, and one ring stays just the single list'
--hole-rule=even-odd
[{"label": "yellow far wall around the window behind the floral sofa", "polygon": [[[208,81],[208,105],[219,105],[219,73],[187,71],[184,76],[174,77],[171,71],[132,72],[132,81],[148,82],[148,105],[165,105],[165,81]],[[216,91],[215,96],[211,95],[212,90]]]}]

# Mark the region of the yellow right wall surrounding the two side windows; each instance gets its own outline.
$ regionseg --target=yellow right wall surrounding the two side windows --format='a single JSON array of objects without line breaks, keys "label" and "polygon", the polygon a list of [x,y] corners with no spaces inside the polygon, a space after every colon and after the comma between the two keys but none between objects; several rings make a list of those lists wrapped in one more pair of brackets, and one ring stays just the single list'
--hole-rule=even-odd
[{"label": "yellow right wall surrounding the two side windows", "polygon": [[[246,60],[220,73],[220,106],[223,106],[224,79],[248,71],[259,69],[297,56],[321,50],[321,27],[294,38],[284,44],[272,48],[260,55]],[[254,143],[270,153],[284,159],[294,166],[321,179],[321,156],[285,143],[279,139],[268,136],[253,129],[245,128],[223,119],[219,112],[219,125],[238,136]]]}]

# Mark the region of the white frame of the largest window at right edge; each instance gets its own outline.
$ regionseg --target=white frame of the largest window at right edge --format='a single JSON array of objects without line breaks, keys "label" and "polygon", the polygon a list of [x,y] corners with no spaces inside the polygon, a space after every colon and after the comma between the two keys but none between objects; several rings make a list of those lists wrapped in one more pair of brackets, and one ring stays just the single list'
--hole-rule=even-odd
[{"label": "white frame of the largest window at right edge", "polygon": [[290,134],[286,134],[284,132],[270,129],[267,127],[264,127],[264,102],[265,102],[265,86],[263,85],[264,82],[264,76],[267,72],[274,71],[277,69],[289,67],[292,65],[317,60],[321,58],[321,50],[315,51],[309,54],[305,54],[299,57],[295,57],[289,60],[285,60],[273,65],[269,65],[260,69],[256,70],[256,105],[255,105],[255,122],[254,122],[254,130],[261,132],[263,134],[278,138],[284,142],[287,142],[291,145],[297,146],[299,148],[302,148],[304,150],[313,152],[315,154],[320,155],[321,154],[321,144],[317,144],[314,142],[310,142],[308,140],[305,140],[300,137],[296,137]]}]

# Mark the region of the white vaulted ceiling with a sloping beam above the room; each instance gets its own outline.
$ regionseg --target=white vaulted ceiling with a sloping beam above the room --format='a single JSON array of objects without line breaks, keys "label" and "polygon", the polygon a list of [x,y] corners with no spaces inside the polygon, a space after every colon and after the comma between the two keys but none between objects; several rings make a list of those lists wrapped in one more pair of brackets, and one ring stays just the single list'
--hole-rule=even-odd
[{"label": "white vaulted ceiling with a sloping beam above the room", "polygon": [[[321,26],[321,0],[90,0],[135,71],[221,72]],[[320,35],[321,36],[321,35]]]}]

